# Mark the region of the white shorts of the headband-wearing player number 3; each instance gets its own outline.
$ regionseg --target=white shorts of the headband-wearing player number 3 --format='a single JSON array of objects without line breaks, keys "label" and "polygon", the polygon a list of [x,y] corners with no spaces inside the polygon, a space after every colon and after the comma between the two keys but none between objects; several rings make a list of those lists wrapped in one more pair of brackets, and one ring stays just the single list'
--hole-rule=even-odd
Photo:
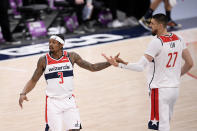
[{"label": "white shorts of the headband-wearing player number 3", "polygon": [[81,129],[79,109],[73,96],[63,99],[46,97],[45,117],[50,131]]}]

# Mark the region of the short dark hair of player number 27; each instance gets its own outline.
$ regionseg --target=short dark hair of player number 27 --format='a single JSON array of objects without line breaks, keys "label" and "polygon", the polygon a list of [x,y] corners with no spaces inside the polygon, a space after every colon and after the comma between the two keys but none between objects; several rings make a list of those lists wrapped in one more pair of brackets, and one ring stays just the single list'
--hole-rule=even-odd
[{"label": "short dark hair of player number 27", "polygon": [[158,23],[162,24],[164,27],[166,27],[168,24],[167,16],[162,13],[153,15],[152,19],[155,19]]}]

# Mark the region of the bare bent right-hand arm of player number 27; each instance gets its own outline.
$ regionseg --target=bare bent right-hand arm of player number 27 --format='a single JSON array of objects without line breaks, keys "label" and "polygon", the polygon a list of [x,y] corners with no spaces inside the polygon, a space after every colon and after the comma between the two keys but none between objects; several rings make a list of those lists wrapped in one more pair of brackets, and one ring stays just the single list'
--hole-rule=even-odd
[{"label": "bare bent right-hand arm of player number 27", "polygon": [[182,57],[185,61],[185,64],[181,69],[181,76],[187,73],[193,66],[193,60],[188,49],[183,50]]}]

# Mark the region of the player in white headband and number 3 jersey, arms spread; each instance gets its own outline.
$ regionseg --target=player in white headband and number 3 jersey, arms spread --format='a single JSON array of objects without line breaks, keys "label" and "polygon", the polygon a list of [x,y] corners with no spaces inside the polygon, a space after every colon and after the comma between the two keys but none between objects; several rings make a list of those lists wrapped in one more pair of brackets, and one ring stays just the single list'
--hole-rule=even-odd
[{"label": "player in white headband and number 3 jersey, arms spread", "polygon": [[49,40],[50,52],[41,56],[32,78],[20,93],[19,105],[28,100],[27,94],[35,87],[44,73],[46,87],[46,123],[45,131],[79,131],[81,122],[79,110],[73,95],[73,66],[90,71],[100,71],[110,66],[109,62],[91,64],[75,52],[63,51],[64,37],[52,35]]}]

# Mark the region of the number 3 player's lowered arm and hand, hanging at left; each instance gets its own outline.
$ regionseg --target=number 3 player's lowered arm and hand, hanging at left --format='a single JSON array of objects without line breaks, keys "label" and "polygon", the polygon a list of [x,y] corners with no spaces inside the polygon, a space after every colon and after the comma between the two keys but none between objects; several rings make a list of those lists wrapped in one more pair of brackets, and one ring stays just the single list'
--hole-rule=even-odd
[{"label": "number 3 player's lowered arm and hand, hanging at left", "polygon": [[23,91],[20,93],[20,97],[19,97],[19,105],[22,108],[23,107],[23,101],[27,99],[26,94],[29,93],[36,85],[37,81],[39,80],[39,78],[41,77],[41,75],[43,74],[44,70],[45,70],[45,57],[40,57],[40,59],[38,60],[37,63],[37,68],[34,71],[34,74],[32,76],[32,78],[27,82],[27,84],[25,85]]}]

